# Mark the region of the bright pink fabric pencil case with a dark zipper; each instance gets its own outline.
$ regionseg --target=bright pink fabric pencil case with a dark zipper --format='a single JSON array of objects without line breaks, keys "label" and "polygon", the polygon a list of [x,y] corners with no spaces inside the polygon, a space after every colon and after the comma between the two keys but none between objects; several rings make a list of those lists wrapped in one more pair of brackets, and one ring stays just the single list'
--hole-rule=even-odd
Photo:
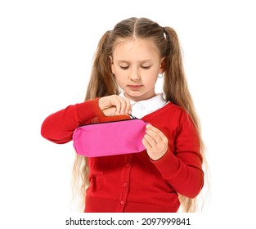
[{"label": "bright pink fabric pencil case with a dark zipper", "polygon": [[87,124],[74,130],[73,146],[78,155],[87,157],[138,153],[146,150],[142,144],[146,124],[141,119]]}]

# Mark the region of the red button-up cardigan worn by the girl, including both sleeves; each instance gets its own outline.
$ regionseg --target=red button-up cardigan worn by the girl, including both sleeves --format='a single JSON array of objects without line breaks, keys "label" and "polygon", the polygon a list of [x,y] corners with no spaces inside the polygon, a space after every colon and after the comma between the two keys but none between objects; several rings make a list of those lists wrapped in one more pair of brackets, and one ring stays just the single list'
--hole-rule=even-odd
[{"label": "red button-up cardigan worn by the girl, including both sleeves", "polygon": [[[68,106],[44,120],[49,141],[72,141],[75,128],[104,115],[98,99]],[[190,117],[172,102],[142,118],[168,137],[168,151],[156,161],[146,151],[89,158],[85,212],[177,212],[177,194],[194,198],[204,184],[200,142]],[[100,141],[99,141],[100,143]]]}]

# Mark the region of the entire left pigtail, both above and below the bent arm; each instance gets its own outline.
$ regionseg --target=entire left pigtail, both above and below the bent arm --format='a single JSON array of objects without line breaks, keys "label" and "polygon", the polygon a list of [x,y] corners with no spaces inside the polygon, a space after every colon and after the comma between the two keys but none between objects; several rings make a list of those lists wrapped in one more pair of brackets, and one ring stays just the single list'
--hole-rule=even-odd
[{"label": "entire left pigtail, both above and below the bent arm", "polygon": [[[97,51],[93,58],[91,79],[88,83],[85,101],[118,94],[119,92],[110,68],[110,34],[111,31],[107,31],[98,43]],[[75,199],[79,201],[79,211],[81,212],[85,207],[84,196],[90,184],[88,174],[88,158],[75,154],[72,179],[73,197],[74,201]]]}]

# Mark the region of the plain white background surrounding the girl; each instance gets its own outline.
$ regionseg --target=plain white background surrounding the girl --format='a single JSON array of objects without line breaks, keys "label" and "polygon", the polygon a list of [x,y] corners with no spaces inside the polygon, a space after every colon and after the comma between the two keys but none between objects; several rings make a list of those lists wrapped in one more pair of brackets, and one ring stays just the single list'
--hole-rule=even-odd
[{"label": "plain white background surrounding the girl", "polygon": [[2,228],[62,228],[74,213],[72,142],[43,139],[41,124],[47,115],[83,101],[97,42],[131,16],[173,27],[182,43],[211,173],[198,225],[253,223],[254,1],[10,0],[0,2]]}]

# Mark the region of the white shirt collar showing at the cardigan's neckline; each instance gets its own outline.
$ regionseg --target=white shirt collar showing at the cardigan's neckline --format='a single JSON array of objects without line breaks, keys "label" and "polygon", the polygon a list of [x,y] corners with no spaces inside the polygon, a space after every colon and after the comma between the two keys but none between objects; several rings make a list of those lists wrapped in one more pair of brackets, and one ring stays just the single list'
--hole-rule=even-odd
[{"label": "white shirt collar showing at the cardigan's neckline", "polygon": [[[119,94],[120,97],[125,97],[124,92]],[[152,97],[148,100],[143,101],[131,101],[132,106],[132,116],[135,116],[137,119],[141,119],[145,115],[149,115],[155,110],[159,110],[161,107],[166,105],[164,100],[163,93],[157,94],[155,97]]]}]

